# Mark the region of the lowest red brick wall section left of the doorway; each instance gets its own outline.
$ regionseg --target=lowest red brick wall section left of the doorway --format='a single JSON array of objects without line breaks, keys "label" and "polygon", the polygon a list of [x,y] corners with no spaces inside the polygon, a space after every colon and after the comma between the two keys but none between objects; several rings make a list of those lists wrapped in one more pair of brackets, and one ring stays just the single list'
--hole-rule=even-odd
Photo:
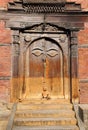
[{"label": "lowest red brick wall section left of the doorway", "polygon": [[0,100],[10,101],[10,80],[0,80]]}]

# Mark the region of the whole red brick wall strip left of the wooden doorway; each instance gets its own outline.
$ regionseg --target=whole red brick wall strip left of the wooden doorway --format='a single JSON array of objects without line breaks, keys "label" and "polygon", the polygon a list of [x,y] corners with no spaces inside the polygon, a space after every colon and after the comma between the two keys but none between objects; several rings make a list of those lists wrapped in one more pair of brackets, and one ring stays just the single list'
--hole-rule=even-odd
[{"label": "whole red brick wall strip left of the wooden doorway", "polygon": [[11,31],[0,21],[0,99],[10,100]]}]

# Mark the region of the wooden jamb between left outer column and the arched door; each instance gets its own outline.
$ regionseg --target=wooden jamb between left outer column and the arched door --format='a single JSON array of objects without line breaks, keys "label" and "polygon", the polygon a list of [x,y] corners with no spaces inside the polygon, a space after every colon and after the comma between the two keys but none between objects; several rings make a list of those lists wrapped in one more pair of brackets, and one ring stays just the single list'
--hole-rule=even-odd
[{"label": "wooden jamb between left outer column and the arched door", "polygon": [[[26,37],[28,38],[28,37]],[[27,41],[28,40],[28,41]],[[20,92],[19,92],[19,101],[22,101],[23,99],[25,99],[25,96],[26,96],[26,58],[27,58],[27,52],[26,52],[26,42],[29,42],[29,39],[25,39],[24,38],[24,35],[22,33],[20,33],[20,57],[19,57],[19,61],[20,61],[20,68],[19,68],[19,71],[20,71],[20,80],[19,80],[19,83],[20,83]],[[28,66],[29,67],[29,66]]]}]

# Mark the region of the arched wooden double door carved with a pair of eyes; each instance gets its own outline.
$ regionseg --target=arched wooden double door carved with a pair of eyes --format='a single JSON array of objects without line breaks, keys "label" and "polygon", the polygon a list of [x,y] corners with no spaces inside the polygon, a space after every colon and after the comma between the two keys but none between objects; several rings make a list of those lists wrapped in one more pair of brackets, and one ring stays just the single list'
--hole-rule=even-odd
[{"label": "arched wooden double door carved with a pair of eyes", "polygon": [[27,51],[27,97],[42,98],[46,88],[50,98],[64,98],[63,56],[59,45],[42,38],[33,42]]}]

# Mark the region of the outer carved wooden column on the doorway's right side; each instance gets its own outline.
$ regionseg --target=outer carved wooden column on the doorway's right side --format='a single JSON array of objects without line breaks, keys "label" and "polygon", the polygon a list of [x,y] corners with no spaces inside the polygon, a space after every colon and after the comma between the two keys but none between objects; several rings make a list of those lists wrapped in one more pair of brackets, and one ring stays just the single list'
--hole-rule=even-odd
[{"label": "outer carved wooden column on the doorway's right side", "polygon": [[79,102],[78,89],[78,32],[71,32],[71,95],[72,102]]}]

